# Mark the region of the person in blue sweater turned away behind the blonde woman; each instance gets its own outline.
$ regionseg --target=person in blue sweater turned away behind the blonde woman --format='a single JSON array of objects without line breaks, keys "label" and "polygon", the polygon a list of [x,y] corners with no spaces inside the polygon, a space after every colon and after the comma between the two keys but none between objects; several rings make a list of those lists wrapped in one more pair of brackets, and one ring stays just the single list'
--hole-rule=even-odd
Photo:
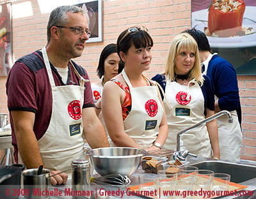
[{"label": "person in blue sweater turned away behind the blonde woman", "polygon": [[214,85],[215,112],[228,110],[232,114],[232,123],[228,123],[225,115],[217,119],[220,158],[239,161],[243,136],[236,70],[231,63],[218,54],[211,54],[209,41],[202,31],[193,28],[184,32],[195,38],[198,44],[202,72],[209,76]]}]

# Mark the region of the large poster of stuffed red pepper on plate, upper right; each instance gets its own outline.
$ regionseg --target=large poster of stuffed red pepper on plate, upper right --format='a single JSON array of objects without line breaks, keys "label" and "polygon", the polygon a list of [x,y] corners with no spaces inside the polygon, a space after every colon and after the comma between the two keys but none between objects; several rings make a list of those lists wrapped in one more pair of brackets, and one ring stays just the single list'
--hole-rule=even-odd
[{"label": "large poster of stuffed red pepper on plate, upper right", "polygon": [[207,35],[212,52],[237,75],[256,75],[255,0],[191,0],[191,27]]}]

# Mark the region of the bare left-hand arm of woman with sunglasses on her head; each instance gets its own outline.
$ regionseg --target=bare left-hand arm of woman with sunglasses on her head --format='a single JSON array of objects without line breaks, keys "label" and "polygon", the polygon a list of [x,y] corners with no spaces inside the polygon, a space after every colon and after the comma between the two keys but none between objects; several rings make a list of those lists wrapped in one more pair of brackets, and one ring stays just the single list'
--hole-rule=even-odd
[{"label": "bare left-hand arm of woman with sunglasses on her head", "polygon": [[101,108],[111,140],[118,147],[140,148],[124,131],[122,117],[122,94],[124,91],[114,82],[107,82],[102,91]]}]

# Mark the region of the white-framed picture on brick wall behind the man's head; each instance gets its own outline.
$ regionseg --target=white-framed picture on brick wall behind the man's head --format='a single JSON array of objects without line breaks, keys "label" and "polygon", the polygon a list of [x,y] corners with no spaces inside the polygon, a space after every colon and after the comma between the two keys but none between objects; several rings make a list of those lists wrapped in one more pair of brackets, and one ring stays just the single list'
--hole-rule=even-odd
[{"label": "white-framed picture on brick wall behind the man's head", "polygon": [[102,41],[102,0],[82,0],[81,3],[76,4],[76,6],[83,8],[89,18],[88,25],[92,34],[86,43]]}]

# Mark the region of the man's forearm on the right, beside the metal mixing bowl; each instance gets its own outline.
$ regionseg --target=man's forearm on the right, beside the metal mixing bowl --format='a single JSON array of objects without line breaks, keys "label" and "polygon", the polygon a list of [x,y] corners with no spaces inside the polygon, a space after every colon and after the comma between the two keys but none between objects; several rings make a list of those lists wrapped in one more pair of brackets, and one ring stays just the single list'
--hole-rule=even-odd
[{"label": "man's forearm on the right, beside the metal mixing bowl", "polygon": [[109,147],[108,138],[102,123],[95,113],[95,108],[83,108],[83,133],[92,149]]}]

